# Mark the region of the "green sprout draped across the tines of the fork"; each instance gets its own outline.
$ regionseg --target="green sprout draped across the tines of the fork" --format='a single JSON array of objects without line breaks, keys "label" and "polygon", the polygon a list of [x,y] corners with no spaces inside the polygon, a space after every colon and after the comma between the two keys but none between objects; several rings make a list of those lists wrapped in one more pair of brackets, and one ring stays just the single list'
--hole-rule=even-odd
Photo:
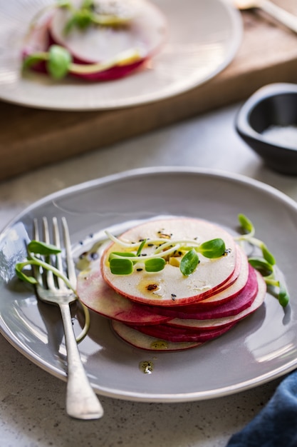
[{"label": "green sprout draped across the tines of the fork", "polygon": [[[49,258],[51,256],[55,256],[58,253],[61,253],[61,249],[58,248],[55,245],[52,245],[51,243],[44,243],[41,241],[30,241],[27,244],[27,257],[24,261],[16,263],[15,271],[16,276],[21,279],[21,281],[25,281],[26,283],[32,284],[33,286],[36,286],[38,284],[38,281],[34,276],[31,276],[30,274],[26,273],[27,267],[38,267],[42,268],[43,271],[51,271],[55,276],[58,278],[61,278],[64,283],[66,283],[66,286],[73,291],[73,293],[76,295],[75,288],[73,288],[71,282],[68,280],[67,276],[64,275],[58,268],[53,266],[51,263],[48,263],[43,260],[41,256],[44,257],[44,259]],[[85,315],[85,325],[83,327],[83,330],[80,332],[78,337],[76,338],[76,341],[79,343],[80,341],[85,338],[86,334],[88,333],[88,328],[90,327],[90,314],[88,311],[88,308],[81,303],[83,307],[83,312]]]}]

